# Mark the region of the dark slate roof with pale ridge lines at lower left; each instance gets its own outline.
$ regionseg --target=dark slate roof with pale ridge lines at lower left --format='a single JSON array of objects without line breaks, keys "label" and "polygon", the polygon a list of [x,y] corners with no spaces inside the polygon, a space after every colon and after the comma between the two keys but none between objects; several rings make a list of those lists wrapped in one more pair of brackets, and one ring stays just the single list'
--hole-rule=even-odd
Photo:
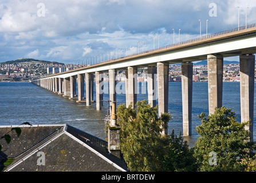
[{"label": "dark slate roof with pale ridge lines at lower left", "polygon": [[22,130],[19,137],[14,130],[10,132],[13,127],[17,126],[0,126],[0,137],[6,133],[11,136],[10,144],[0,139],[0,162],[14,159],[6,172],[129,171],[122,158],[109,153],[107,141],[73,126],[18,126]]}]

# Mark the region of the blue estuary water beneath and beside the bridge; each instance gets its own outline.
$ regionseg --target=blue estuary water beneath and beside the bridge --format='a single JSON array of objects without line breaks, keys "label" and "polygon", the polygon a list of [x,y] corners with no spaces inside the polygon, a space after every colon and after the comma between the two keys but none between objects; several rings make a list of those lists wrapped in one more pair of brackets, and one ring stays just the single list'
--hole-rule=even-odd
[{"label": "blue estuary water beneath and beside the bridge", "polygon": [[[139,85],[141,88],[141,85],[146,85],[146,83],[139,83]],[[184,140],[187,140],[189,144],[193,144],[198,138],[196,126],[201,124],[198,115],[202,112],[208,114],[207,85],[207,82],[193,83],[192,136],[184,137]],[[145,99],[147,99],[147,93],[141,94],[140,92],[137,94],[137,100]],[[3,82],[0,83],[0,125],[20,125],[23,122],[29,122],[32,125],[68,124],[105,140],[104,118],[108,112],[108,100],[108,94],[104,94],[104,101],[106,102],[104,102],[103,109],[97,111],[96,102],[92,102],[91,106],[86,106],[85,103],[69,100],[68,97],[62,97],[33,83]],[[117,94],[117,105],[119,104],[125,104],[125,94]],[[239,82],[223,82],[223,106],[233,109],[238,116],[237,120],[241,121]],[[168,109],[173,115],[168,124],[168,133],[171,133],[172,129],[174,129],[175,134],[182,133],[181,82],[169,83]],[[254,109],[256,109],[255,106]],[[254,112],[254,131],[255,118]]]}]

